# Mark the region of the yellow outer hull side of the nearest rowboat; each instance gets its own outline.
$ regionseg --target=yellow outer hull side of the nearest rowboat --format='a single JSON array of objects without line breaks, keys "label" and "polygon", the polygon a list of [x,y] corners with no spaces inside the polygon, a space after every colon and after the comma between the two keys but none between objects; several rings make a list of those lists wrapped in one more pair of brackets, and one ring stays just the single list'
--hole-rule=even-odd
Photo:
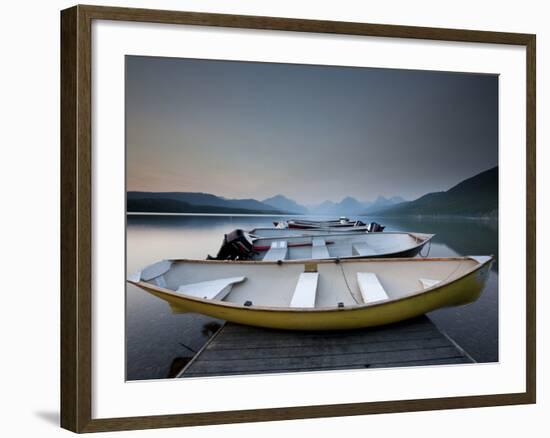
[{"label": "yellow outer hull side of the nearest rowboat", "polygon": [[137,286],[168,302],[174,311],[196,312],[237,324],[283,330],[346,330],[391,324],[442,307],[476,301],[486,284],[491,260],[439,287],[380,304],[327,309],[243,307],[175,296],[146,282]]}]

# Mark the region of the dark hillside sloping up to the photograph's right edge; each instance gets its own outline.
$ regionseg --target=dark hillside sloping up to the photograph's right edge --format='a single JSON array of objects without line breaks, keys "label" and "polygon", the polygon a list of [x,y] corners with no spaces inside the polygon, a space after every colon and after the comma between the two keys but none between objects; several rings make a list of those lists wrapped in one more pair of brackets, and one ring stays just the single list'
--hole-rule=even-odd
[{"label": "dark hillside sloping up to the photograph's right edge", "polygon": [[497,217],[498,166],[468,178],[446,192],[428,193],[410,202],[369,208],[380,216],[472,216]]}]

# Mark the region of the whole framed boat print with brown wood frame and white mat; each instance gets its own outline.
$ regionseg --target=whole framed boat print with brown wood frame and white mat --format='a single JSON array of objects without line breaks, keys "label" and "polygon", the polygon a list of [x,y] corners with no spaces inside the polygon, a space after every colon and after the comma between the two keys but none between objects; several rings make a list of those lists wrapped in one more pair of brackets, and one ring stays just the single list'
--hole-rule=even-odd
[{"label": "whole framed boat print with brown wood frame and white mat", "polygon": [[535,402],[534,35],[75,6],[61,49],[62,427]]}]

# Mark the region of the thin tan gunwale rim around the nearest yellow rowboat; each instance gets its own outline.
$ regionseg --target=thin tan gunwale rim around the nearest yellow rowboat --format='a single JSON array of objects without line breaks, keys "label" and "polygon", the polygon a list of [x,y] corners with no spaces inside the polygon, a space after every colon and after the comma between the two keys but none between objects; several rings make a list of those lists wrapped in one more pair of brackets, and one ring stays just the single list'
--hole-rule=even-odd
[{"label": "thin tan gunwale rim around the nearest yellow rowboat", "polygon": [[[437,261],[473,260],[473,261],[477,262],[478,265],[474,266],[473,268],[466,271],[463,275],[461,275],[460,277],[455,278],[454,280],[449,280],[449,281],[447,281],[443,284],[438,283],[438,284],[436,284],[434,286],[431,286],[429,288],[422,289],[420,292],[411,293],[409,295],[405,295],[405,296],[402,296],[402,297],[399,297],[399,298],[394,298],[394,299],[390,298],[390,299],[375,302],[375,303],[372,303],[372,304],[365,303],[365,304],[357,304],[357,305],[344,306],[344,307],[337,307],[337,306],[334,306],[334,307],[321,307],[321,308],[275,307],[275,306],[250,306],[250,307],[247,307],[247,306],[244,306],[243,304],[235,304],[235,303],[231,303],[231,302],[228,302],[228,301],[207,300],[207,299],[204,299],[204,298],[192,297],[192,296],[188,296],[188,295],[178,294],[176,291],[173,291],[171,289],[166,289],[166,288],[163,288],[163,287],[160,287],[160,286],[157,286],[157,285],[145,282],[145,281],[141,281],[141,280],[138,281],[138,282],[135,282],[135,281],[127,279],[126,281],[130,284],[135,285],[135,286],[145,288],[145,289],[151,289],[151,290],[153,290],[157,293],[170,295],[170,296],[175,297],[175,298],[182,298],[184,300],[196,301],[196,302],[202,303],[202,304],[208,304],[208,305],[213,305],[213,306],[218,306],[218,307],[228,307],[228,308],[240,309],[240,310],[244,310],[244,311],[262,311],[262,312],[280,312],[280,313],[282,313],[282,312],[292,312],[292,313],[353,312],[353,311],[363,310],[365,308],[375,308],[375,307],[385,306],[385,305],[393,304],[393,303],[397,303],[397,302],[407,301],[407,300],[411,300],[411,299],[417,298],[417,297],[422,296],[422,295],[426,295],[426,294],[436,292],[437,290],[441,289],[444,286],[449,286],[453,283],[456,283],[458,281],[463,280],[466,277],[469,277],[471,274],[473,274],[474,272],[482,269],[486,265],[492,263],[493,260],[494,260],[493,255],[487,256],[488,259],[483,261],[483,262],[479,262],[473,257],[474,256],[470,256],[470,257],[469,256],[464,256],[464,257],[434,257],[434,258],[416,258],[415,257],[415,258],[399,258],[399,259],[396,259],[396,258],[390,258],[390,259],[383,259],[383,258],[365,259],[365,261],[368,261],[369,263],[380,263],[380,262],[386,262],[386,263],[387,262],[395,262],[395,263],[397,263],[397,262],[404,262],[404,261],[410,261],[410,262],[432,261],[432,262],[437,262]],[[232,261],[232,260],[169,259],[169,261],[171,261],[171,262],[183,262],[183,263],[196,263],[196,264],[232,264],[232,265],[234,265],[234,264],[243,264],[243,265],[259,264],[259,265],[262,265],[262,266],[265,266],[267,264],[273,264],[273,265],[278,265],[278,266],[281,265],[280,263],[278,263],[276,261],[275,262],[261,262],[261,261],[256,261],[256,260]],[[357,263],[357,261],[358,261],[357,259],[346,259],[346,260],[340,260],[338,263]],[[304,262],[300,261],[300,260],[289,260],[289,261],[286,261],[286,262],[283,262],[283,263],[284,264],[303,264]],[[336,262],[334,260],[331,260],[331,259],[324,259],[324,260],[316,261],[316,263],[336,263]]]}]

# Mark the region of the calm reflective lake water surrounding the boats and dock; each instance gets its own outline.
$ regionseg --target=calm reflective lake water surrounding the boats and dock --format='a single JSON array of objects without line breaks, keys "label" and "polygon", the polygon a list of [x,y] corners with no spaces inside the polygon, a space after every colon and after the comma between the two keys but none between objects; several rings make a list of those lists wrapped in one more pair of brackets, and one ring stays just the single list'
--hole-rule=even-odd
[{"label": "calm reflective lake water surrounding the boats and dock", "polygon": [[[128,215],[127,271],[169,258],[216,255],[225,233],[272,226],[279,216]],[[496,221],[468,219],[376,220],[387,231],[435,233],[430,256],[498,255]],[[487,287],[475,303],[440,309],[430,319],[478,362],[498,361],[498,257]],[[173,315],[162,300],[128,285],[126,289],[126,377],[173,376],[222,321],[198,314]]]}]

